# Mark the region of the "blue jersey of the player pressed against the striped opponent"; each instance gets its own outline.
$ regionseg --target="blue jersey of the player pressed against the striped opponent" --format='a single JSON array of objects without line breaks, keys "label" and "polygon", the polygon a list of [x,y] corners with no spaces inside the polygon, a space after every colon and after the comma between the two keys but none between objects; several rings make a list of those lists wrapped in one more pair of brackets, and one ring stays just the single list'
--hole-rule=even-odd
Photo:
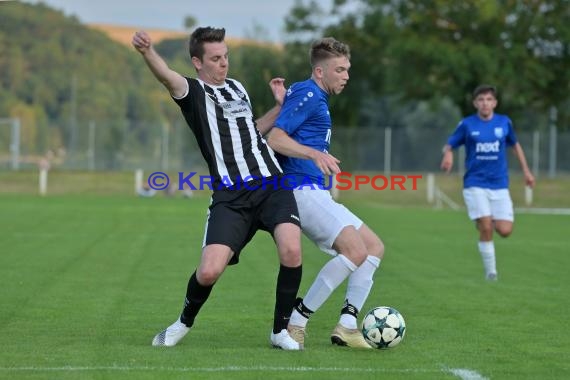
[{"label": "blue jersey of the player pressed against the striped opponent", "polygon": [[[283,129],[293,140],[321,152],[328,152],[332,120],[329,95],[312,79],[289,87],[275,127]],[[312,160],[277,155],[286,175],[295,176],[297,184],[324,184],[321,170]]]}]

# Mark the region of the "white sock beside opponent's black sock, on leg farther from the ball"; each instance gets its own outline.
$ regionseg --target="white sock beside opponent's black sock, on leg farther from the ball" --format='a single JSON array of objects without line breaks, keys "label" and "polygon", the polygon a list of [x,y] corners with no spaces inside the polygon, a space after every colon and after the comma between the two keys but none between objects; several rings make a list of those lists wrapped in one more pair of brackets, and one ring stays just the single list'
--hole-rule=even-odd
[{"label": "white sock beside opponent's black sock, on leg farther from the ball", "polygon": [[[326,263],[313,284],[309,288],[307,295],[303,298],[303,304],[311,311],[317,311],[319,307],[329,298],[332,292],[347,278],[356,265],[344,255],[337,255]],[[293,322],[291,322],[294,324]]]}]

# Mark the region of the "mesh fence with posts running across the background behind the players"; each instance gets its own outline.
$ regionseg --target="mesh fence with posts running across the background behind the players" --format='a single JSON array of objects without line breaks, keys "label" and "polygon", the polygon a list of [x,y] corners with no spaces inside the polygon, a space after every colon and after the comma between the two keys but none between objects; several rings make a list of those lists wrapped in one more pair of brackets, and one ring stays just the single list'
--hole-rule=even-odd
[{"label": "mesh fence with posts running across the background behind the players", "polygon": [[[133,125],[86,122],[77,128],[73,148],[51,134],[47,142],[24,141],[18,119],[0,119],[0,170],[35,167],[47,159],[51,167],[73,170],[188,170],[204,168],[194,136],[183,121],[176,124]],[[141,132],[144,131],[144,132]],[[149,132],[150,131],[150,132]],[[333,131],[330,152],[347,171],[434,172],[450,130],[404,128],[339,128]],[[570,132],[519,132],[529,165],[536,176],[570,173]],[[463,172],[462,151],[455,170]],[[518,171],[518,162],[510,160]]]}]

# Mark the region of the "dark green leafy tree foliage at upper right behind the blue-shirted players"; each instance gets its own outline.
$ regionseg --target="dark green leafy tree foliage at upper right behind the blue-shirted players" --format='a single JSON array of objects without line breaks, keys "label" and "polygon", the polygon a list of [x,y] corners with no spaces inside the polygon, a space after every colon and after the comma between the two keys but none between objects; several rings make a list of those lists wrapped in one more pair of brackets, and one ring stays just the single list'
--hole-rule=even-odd
[{"label": "dark green leafy tree foliage at upper right behind the blue-shirted players", "polygon": [[298,20],[290,23],[295,34],[305,28],[348,42],[353,68],[347,90],[355,88],[360,98],[449,97],[466,114],[473,112],[472,90],[493,83],[501,112],[546,113],[555,106],[560,124],[568,123],[568,0],[335,0],[332,21],[321,26],[303,23],[311,13],[306,4],[290,14]]}]

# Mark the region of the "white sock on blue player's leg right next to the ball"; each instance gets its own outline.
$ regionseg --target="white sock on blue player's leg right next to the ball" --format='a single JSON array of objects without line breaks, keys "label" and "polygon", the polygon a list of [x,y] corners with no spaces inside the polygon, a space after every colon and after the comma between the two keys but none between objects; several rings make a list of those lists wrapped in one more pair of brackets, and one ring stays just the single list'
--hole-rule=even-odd
[{"label": "white sock on blue player's leg right next to the ball", "polygon": [[[374,280],[374,272],[380,266],[380,258],[376,256],[367,256],[366,260],[348,277],[348,286],[346,289],[346,299],[348,303],[356,307],[360,312],[370,294]],[[351,314],[341,314],[339,323],[349,329],[358,327],[356,317]]]}]

